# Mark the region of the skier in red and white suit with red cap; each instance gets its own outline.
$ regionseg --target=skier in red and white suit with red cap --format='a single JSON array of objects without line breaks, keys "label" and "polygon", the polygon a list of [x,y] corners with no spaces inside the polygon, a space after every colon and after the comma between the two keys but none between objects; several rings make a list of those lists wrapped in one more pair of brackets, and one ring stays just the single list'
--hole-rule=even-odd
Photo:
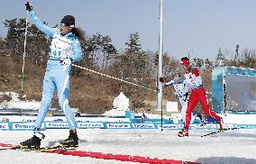
[{"label": "skier in red and white suit with red cap", "polygon": [[191,68],[189,64],[189,59],[187,57],[181,59],[181,65],[185,66],[185,77],[186,81],[190,86],[191,93],[187,103],[187,114],[186,114],[186,124],[184,129],[181,132],[178,132],[179,137],[188,136],[188,127],[191,120],[191,113],[197,102],[199,101],[202,105],[204,112],[206,115],[214,117],[219,123],[220,130],[223,129],[223,119],[222,117],[215,114],[215,112],[211,111],[206,100],[206,89],[203,87],[202,77],[199,74],[198,68]]}]

